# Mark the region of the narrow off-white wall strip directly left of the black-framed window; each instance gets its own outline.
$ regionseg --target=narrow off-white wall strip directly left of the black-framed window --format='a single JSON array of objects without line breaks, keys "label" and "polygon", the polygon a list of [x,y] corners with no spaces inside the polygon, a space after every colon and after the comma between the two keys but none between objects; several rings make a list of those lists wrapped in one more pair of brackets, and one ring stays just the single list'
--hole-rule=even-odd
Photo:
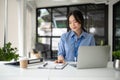
[{"label": "narrow off-white wall strip directly left of the black-framed window", "polygon": [[[26,53],[29,53],[35,46],[36,39],[36,9],[30,4],[26,7]],[[28,55],[27,55],[28,56]]]}]

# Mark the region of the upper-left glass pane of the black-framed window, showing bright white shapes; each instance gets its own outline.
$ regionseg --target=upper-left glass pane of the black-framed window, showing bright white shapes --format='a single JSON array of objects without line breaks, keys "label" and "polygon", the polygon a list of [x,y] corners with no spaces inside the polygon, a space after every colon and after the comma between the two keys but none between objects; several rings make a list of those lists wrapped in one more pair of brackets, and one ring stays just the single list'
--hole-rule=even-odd
[{"label": "upper-left glass pane of the black-framed window, showing bright white shapes", "polygon": [[38,35],[51,36],[51,9],[39,9],[38,13]]}]

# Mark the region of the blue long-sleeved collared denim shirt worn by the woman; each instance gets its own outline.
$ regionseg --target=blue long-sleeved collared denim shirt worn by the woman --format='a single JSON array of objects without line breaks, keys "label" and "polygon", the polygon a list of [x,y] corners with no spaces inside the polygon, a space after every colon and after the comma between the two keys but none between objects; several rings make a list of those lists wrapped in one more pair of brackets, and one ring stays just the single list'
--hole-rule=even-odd
[{"label": "blue long-sleeved collared denim shirt worn by the woman", "polygon": [[94,46],[95,39],[92,34],[87,32],[82,32],[82,34],[77,37],[73,31],[64,33],[61,36],[58,45],[58,55],[64,57],[66,61],[75,61],[77,57],[77,51],[79,46]]}]

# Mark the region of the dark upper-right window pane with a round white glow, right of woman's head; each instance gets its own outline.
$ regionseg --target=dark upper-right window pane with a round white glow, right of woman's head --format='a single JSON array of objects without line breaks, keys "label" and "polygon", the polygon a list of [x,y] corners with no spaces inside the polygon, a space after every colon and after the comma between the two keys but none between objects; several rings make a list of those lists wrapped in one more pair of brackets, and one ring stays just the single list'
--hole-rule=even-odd
[{"label": "dark upper-right window pane with a round white glow, right of woman's head", "polygon": [[89,32],[97,36],[104,36],[104,6],[88,5],[87,10],[87,27]]}]

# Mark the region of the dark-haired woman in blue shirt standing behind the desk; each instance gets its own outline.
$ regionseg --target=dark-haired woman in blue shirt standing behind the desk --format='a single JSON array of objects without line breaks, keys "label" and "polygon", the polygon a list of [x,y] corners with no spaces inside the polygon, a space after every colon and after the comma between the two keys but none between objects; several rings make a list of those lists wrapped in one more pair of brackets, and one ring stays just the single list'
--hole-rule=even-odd
[{"label": "dark-haired woman in blue shirt standing behind the desk", "polygon": [[73,11],[68,15],[70,31],[61,36],[58,45],[58,59],[56,63],[76,61],[79,46],[94,46],[95,40],[92,34],[84,29],[84,18],[80,11]]}]

